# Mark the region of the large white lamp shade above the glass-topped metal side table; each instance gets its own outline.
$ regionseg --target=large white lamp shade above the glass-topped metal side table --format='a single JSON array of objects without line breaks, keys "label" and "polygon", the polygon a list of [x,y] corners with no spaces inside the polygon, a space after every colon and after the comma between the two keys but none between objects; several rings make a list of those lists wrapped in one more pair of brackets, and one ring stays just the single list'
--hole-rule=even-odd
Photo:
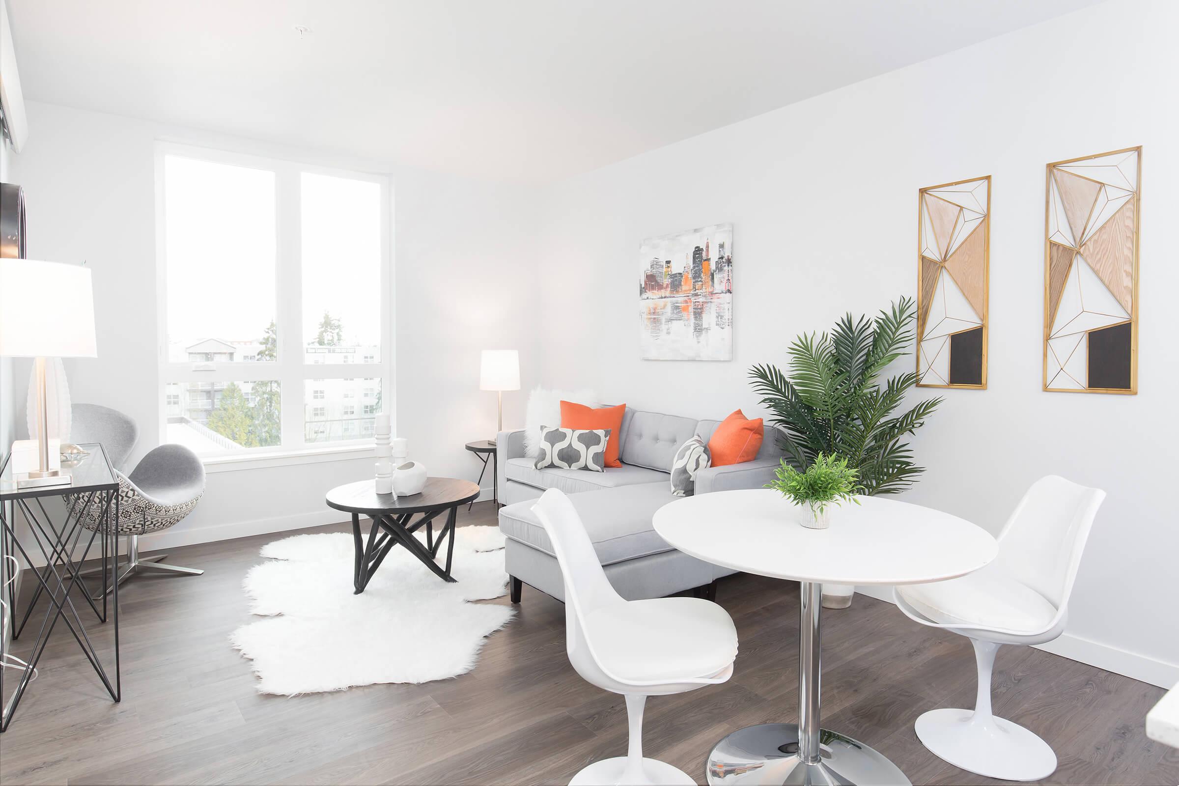
[{"label": "large white lamp shade above the glass-topped metal side table", "polygon": [[97,357],[90,267],[0,259],[0,355]]}]

